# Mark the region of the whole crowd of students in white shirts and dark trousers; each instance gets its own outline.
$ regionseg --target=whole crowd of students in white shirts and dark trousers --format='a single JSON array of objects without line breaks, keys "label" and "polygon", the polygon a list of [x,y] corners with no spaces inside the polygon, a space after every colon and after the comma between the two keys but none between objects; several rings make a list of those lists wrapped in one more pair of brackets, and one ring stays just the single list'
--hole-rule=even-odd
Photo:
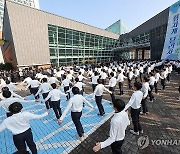
[{"label": "whole crowd of students in white shirts and dark trousers", "polygon": [[[83,97],[84,88],[90,84],[93,92],[91,101],[95,100],[99,111],[97,116],[106,114],[102,104],[104,91],[110,94],[112,107],[115,110],[115,114],[111,119],[109,138],[104,142],[97,143],[93,150],[97,152],[111,145],[112,153],[120,154],[122,153],[121,146],[124,141],[125,130],[130,124],[126,111],[129,107],[131,108],[130,114],[134,129],[130,130],[130,132],[134,135],[143,133],[139,115],[149,114],[147,102],[153,102],[156,99],[154,94],[158,96],[159,90],[166,89],[166,84],[171,81],[173,69],[177,74],[180,74],[179,61],[114,61],[106,64],[83,65],[78,68],[59,67],[16,71],[17,84],[26,84],[25,89],[29,89],[34,96],[34,100],[31,101],[42,101],[45,104],[47,112],[42,115],[21,112],[23,108],[21,103],[27,102],[27,100],[14,91],[24,89],[18,88],[13,83],[15,81],[13,72],[10,72],[10,74],[1,72],[2,96],[0,107],[4,108],[7,119],[0,124],[0,131],[6,128],[12,131],[14,145],[18,151],[26,151],[25,143],[27,143],[31,152],[36,154],[37,149],[33,141],[29,120],[47,116],[52,108],[57,122],[61,124],[67,112],[71,109],[72,121],[79,135],[78,141],[83,141],[85,132],[80,121],[83,106],[87,104],[92,109],[96,108]],[[124,91],[125,80],[127,80],[128,88],[134,91],[127,104],[123,100],[116,98],[117,94],[124,95],[126,93]],[[160,84],[161,89],[159,89]],[[119,93],[115,91],[116,86],[119,87]],[[64,92],[60,90],[62,88]],[[42,94],[43,100],[39,99],[40,94]],[[63,113],[60,105],[61,96],[66,96],[68,101]],[[180,99],[180,96],[178,99]]]}]

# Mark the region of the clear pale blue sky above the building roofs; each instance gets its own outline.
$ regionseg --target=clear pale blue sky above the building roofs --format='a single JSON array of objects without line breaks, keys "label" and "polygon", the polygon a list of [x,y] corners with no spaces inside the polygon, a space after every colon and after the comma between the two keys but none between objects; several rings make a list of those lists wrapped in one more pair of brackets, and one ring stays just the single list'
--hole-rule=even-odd
[{"label": "clear pale blue sky above the building roofs", "polygon": [[178,0],[39,0],[40,9],[101,29],[121,19],[129,31]]}]

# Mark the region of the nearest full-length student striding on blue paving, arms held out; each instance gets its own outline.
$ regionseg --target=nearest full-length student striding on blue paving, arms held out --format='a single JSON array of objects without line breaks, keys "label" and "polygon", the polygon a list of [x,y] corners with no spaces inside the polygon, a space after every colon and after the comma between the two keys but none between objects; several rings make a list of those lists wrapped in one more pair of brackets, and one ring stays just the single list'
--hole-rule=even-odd
[{"label": "nearest full-length student striding on blue paving, arms held out", "polygon": [[67,112],[71,108],[71,118],[74,125],[76,126],[76,130],[79,135],[79,140],[82,141],[84,136],[84,129],[82,127],[80,118],[82,116],[83,103],[88,104],[91,108],[94,107],[82,95],[79,94],[78,87],[73,87],[72,92],[74,96],[69,100],[66,109],[60,117],[60,123],[62,123],[62,120],[65,118]]}]

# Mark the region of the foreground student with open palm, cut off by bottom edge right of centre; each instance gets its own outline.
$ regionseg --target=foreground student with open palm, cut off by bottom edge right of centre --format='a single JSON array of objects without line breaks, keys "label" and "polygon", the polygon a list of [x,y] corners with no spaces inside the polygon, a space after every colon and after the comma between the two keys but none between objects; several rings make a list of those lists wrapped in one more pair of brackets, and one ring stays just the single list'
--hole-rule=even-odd
[{"label": "foreground student with open palm, cut off by bottom edge right of centre", "polygon": [[111,145],[111,150],[113,154],[122,154],[121,146],[124,142],[125,130],[130,121],[128,114],[124,111],[125,103],[120,99],[116,99],[113,103],[113,108],[115,111],[114,116],[111,119],[109,138],[104,142],[96,143],[93,147],[94,152]]}]

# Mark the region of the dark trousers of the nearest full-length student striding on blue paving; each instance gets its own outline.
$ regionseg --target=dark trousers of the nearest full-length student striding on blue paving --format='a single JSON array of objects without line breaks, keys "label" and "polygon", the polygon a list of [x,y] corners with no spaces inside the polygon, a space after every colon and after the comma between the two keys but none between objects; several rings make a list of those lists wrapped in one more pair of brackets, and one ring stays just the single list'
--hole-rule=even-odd
[{"label": "dark trousers of the nearest full-length student striding on blue paving", "polygon": [[82,115],[82,111],[81,112],[71,112],[71,118],[72,118],[74,125],[76,126],[76,130],[77,130],[79,137],[82,137],[84,134],[84,129],[83,129],[81,121],[80,121],[81,115]]}]

